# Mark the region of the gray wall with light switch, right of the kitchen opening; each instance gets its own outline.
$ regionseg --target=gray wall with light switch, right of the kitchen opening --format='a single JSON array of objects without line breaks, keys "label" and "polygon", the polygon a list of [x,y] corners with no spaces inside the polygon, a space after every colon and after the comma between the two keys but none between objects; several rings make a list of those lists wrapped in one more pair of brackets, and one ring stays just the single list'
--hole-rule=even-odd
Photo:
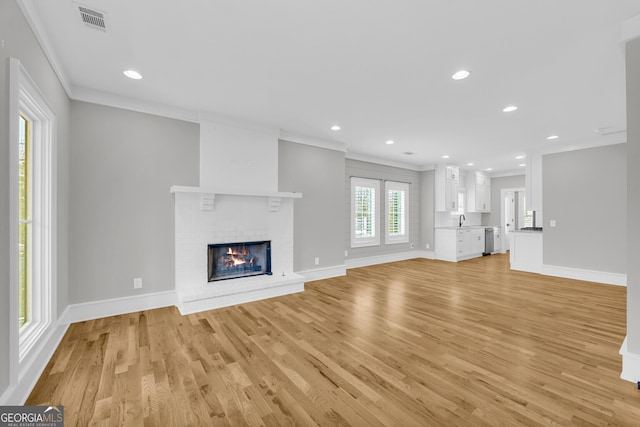
[{"label": "gray wall with light switch, right of the kitchen opening", "polygon": [[543,156],[545,265],[626,273],[626,148]]}]

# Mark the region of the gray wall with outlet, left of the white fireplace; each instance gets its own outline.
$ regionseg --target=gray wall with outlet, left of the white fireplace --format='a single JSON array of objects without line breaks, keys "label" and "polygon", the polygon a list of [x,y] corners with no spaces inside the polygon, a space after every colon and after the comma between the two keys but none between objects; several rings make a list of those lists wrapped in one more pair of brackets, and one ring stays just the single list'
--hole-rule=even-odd
[{"label": "gray wall with outlet, left of the white fireplace", "polygon": [[77,101],[71,117],[69,302],[172,290],[169,188],[198,185],[198,125]]}]

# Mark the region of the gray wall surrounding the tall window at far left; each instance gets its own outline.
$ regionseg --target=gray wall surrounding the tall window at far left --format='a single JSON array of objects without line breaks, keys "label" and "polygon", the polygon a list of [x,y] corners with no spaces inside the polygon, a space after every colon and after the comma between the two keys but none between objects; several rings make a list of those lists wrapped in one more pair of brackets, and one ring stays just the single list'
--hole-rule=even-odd
[{"label": "gray wall surrounding the tall window at far left", "polygon": [[15,1],[0,1],[0,394],[9,384],[9,58],[20,60],[56,115],[57,309],[67,306],[69,99]]}]

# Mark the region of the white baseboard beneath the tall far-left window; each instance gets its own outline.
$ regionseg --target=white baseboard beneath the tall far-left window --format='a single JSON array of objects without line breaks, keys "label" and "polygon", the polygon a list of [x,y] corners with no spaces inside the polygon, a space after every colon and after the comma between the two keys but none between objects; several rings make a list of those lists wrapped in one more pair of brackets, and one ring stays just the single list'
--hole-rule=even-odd
[{"label": "white baseboard beneath the tall far-left window", "polygon": [[67,323],[59,321],[48,328],[29,356],[20,363],[18,383],[0,396],[0,405],[24,405],[68,328]]}]

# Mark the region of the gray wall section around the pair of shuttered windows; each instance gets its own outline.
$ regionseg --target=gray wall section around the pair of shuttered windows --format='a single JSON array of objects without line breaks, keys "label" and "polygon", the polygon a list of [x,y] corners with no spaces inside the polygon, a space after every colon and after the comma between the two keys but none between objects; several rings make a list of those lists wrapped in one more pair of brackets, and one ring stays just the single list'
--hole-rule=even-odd
[{"label": "gray wall section around the pair of shuttered windows", "polygon": [[[411,244],[415,246],[414,250],[421,249],[422,231],[421,231],[421,202],[420,202],[420,172],[402,169],[392,166],[379,165],[376,163],[362,162],[359,160],[346,160],[345,179],[343,185],[345,188],[345,206],[343,221],[346,224],[344,233],[344,248],[349,251],[347,259],[366,258],[370,256],[388,255],[400,252],[411,251]],[[363,178],[373,178],[380,180],[391,180],[399,182],[409,182],[409,243],[396,243],[387,245],[384,243],[384,223],[380,221],[378,231],[380,232],[380,245],[368,246],[364,248],[351,247],[351,176]],[[380,183],[380,191],[384,191],[384,182]],[[380,197],[380,214],[384,215],[385,198]]]}]

